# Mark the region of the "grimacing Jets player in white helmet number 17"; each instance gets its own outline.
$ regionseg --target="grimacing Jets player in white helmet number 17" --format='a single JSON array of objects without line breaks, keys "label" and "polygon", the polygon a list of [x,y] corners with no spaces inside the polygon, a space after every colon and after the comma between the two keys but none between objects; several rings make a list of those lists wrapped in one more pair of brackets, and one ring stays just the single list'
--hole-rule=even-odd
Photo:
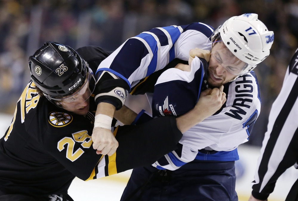
[{"label": "grimacing Jets player in white helmet number 17", "polygon": [[[216,30],[202,23],[151,29],[127,40],[100,64],[99,81],[104,74],[115,75],[115,81],[123,79],[134,93],[142,85],[147,87],[151,72],[175,58],[187,61],[194,49],[190,67],[180,65],[159,77],[152,99],[154,117],[185,113],[207,87],[224,85],[227,94],[225,105],[184,133],[178,149],[154,163],[156,168],[133,170],[122,200],[237,200],[237,146],[248,141],[260,112],[257,78],[251,70],[268,57],[274,39],[257,17],[234,16]],[[205,56],[196,48],[211,53]],[[120,102],[111,103],[121,107]],[[96,138],[95,144],[100,141]]]}]

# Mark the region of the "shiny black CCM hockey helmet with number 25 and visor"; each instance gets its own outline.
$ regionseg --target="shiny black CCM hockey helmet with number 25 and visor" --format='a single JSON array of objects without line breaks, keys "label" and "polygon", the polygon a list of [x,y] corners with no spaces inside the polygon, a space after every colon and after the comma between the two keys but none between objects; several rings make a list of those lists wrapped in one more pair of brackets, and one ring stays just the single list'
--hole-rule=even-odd
[{"label": "shiny black CCM hockey helmet with number 25 and visor", "polygon": [[69,98],[86,83],[91,94],[95,88],[95,77],[88,63],[70,46],[44,43],[29,57],[29,68],[34,84],[50,101]]}]

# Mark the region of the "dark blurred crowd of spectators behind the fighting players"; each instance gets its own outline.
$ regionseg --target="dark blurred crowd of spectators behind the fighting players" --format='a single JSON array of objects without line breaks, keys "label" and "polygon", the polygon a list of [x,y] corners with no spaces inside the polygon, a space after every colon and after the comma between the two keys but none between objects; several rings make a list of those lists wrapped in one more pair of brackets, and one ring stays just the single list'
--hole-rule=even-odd
[{"label": "dark blurred crowd of spectators behind the fighting players", "polygon": [[216,28],[243,13],[257,13],[274,31],[271,54],[255,68],[262,109],[247,144],[260,146],[298,47],[298,0],[0,0],[0,112],[14,112],[30,80],[28,57],[46,41],[112,51],[154,27],[203,22]]}]

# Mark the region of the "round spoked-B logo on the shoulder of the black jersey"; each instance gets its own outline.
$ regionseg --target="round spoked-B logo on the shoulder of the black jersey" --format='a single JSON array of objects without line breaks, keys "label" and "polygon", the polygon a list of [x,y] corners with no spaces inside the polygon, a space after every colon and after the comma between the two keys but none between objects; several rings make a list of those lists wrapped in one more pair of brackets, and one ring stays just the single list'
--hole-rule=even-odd
[{"label": "round spoked-B logo on the shoulder of the black jersey", "polygon": [[49,123],[55,127],[63,127],[72,122],[72,116],[65,112],[50,112]]}]

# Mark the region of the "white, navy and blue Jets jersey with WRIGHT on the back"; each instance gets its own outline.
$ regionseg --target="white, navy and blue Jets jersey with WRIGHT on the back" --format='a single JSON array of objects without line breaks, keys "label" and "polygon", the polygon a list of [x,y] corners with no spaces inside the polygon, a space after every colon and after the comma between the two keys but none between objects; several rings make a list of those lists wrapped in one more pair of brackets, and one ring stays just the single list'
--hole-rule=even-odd
[{"label": "white, navy and blue Jets jersey with WRIGHT on the back", "polygon": [[[211,50],[209,37],[213,30],[209,25],[192,23],[185,26],[158,27],[142,32],[126,40],[109,57],[102,61],[98,66],[96,74],[101,71],[110,71],[125,80],[130,87],[134,87],[140,80],[155,71],[163,69],[175,58],[188,61],[191,49]],[[200,69],[199,66],[197,67]],[[175,71],[175,69],[171,69],[171,71]],[[193,72],[199,73],[200,70],[194,70]],[[202,75],[200,75],[200,78],[197,78],[198,80],[187,77],[190,75],[185,75],[179,81],[193,81],[192,83],[199,81],[197,84],[200,84]],[[175,77],[171,78],[175,79]],[[194,107],[200,93],[200,85],[191,86],[189,88],[191,92],[186,91],[184,94],[187,93],[187,95],[180,94],[180,96],[178,94],[179,90],[176,90],[175,86],[172,87],[171,85],[170,88],[174,92],[177,91],[177,94],[175,97],[168,96],[167,99],[166,97],[162,98],[163,104],[159,106],[162,107],[161,110],[163,110],[164,115],[169,113],[178,116]],[[186,88],[188,87],[186,86]],[[166,89],[164,90],[166,92]],[[251,73],[229,83],[225,90],[228,101],[220,113],[187,131],[185,137],[180,141],[181,149],[179,153],[178,151],[169,153],[165,158],[158,161],[155,166],[160,166],[161,169],[162,167],[177,169],[194,158],[218,161],[234,161],[238,159],[236,147],[247,141],[250,129],[260,112],[257,80],[254,74]],[[180,101],[180,99],[179,101],[175,100],[177,96],[180,99],[184,98],[181,101],[183,106],[179,107],[179,109],[175,107],[175,104]],[[175,104],[171,104],[172,101]],[[163,105],[165,105],[164,108]],[[152,105],[152,107],[155,106]],[[162,114],[160,113],[160,115]],[[198,151],[198,149],[201,150]],[[213,154],[209,155],[210,151],[207,151],[208,149],[216,151],[211,151]]]}]

